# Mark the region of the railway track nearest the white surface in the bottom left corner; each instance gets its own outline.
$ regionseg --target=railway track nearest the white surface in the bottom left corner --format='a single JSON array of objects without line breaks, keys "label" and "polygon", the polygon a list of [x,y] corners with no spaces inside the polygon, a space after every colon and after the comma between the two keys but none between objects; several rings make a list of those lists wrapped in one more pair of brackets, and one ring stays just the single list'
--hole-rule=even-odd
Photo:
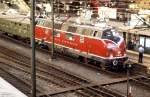
[{"label": "railway track nearest the white surface in the bottom left corner", "polygon": [[[1,68],[0,68],[1,70],[9,74],[10,76],[14,77],[15,79],[17,79],[22,84],[25,84],[23,86],[20,85],[19,89],[23,90],[23,92],[30,97],[31,95],[30,75],[31,74],[25,70],[26,68],[23,69],[18,67],[17,64],[19,64],[19,61],[12,62],[11,60],[6,60],[4,59],[4,57],[2,58],[1,54],[0,54],[0,64],[1,64]],[[43,91],[44,88],[40,85],[37,85],[37,94],[43,93]]]}]

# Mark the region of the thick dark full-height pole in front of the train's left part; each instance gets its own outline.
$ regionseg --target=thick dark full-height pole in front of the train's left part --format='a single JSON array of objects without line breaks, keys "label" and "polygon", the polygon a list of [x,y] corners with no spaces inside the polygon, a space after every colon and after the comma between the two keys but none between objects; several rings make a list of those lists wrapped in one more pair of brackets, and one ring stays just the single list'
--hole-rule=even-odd
[{"label": "thick dark full-height pole in front of the train's left part", "polygon": [[35,64],[35,0],[31,0],[31,97],[36,97],[36,64]]}]

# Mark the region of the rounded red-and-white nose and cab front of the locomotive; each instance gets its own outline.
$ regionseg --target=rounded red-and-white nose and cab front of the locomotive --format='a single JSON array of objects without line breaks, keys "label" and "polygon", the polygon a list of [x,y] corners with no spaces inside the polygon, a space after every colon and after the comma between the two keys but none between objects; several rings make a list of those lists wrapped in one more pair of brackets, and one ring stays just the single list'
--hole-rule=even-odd
[{"label": "rounded red-and-white nose and cab front of the locomotive", "polygon": [[107,48],[106,65],[111,69],[120,69],[125,67],[126,46],[124,39],[114,30],[105,30],[102,39],[104,39]]}]

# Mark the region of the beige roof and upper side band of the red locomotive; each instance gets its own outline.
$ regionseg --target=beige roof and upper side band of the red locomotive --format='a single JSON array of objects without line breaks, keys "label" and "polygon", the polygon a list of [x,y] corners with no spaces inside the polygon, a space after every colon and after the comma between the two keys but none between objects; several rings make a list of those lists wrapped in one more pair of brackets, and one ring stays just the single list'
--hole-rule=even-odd
[{"label": "beige roof and upper side band of the red locomotive", "polygon": [[[54,21],[54,28],[62,31],[67,31],[71,33],[92,36],[92,37],[101,37],[102,31],[106,29],[111,29],[111,27],[98,27],[92,24],[84,24],[75,22],[76,17],[66,17],[66,18],[56,18]],[[37,18],[37,25],[44,27],[52,27],[51,19]]]}]

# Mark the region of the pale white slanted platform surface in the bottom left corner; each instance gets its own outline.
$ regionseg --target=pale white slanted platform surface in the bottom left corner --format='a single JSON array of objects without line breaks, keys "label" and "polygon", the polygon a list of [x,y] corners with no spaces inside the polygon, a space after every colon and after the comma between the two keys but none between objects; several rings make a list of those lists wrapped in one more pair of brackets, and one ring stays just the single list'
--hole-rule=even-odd
[{"label": "pale white slanted platform surface in the bottom left corner", "polygon": [[0,97],[27,97],[13,85],[0,77]]}]

